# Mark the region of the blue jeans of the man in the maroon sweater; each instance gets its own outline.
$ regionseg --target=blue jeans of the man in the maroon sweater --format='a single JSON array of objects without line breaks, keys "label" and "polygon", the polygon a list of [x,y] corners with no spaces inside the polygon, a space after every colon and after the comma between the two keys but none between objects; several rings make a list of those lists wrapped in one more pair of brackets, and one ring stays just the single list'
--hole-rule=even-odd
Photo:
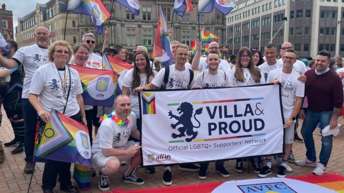
[{"label": "blue jeans of the man in the maroon sweater", "polygon": [[[321,130],[328,126],[332,117],[332,113],[333,111],[316,112],[309,109],[306,112],[306,118],[303,120],[301,128],[301,135],[304,140],[304,145],[307,149],[306,157],[309,161],[317,161],[313,132],[317,128],[319,122],[321,124]],[[332,135],[328,135],[326,137],[322,136],[321,142],[322,144],[319,159],[320,163],[326,166],[332,151]]]}]

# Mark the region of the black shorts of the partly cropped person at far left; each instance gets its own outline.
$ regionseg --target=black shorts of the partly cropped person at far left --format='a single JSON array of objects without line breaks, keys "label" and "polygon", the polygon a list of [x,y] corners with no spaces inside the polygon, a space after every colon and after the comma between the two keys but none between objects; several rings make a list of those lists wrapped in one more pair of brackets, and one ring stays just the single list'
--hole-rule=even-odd
[{"label": "black shorts of the partly cropped person at far left", "polygon": [[8,118],[12,118],[13,120],[23,119],[21,91],[7,93],[3,104]]}]

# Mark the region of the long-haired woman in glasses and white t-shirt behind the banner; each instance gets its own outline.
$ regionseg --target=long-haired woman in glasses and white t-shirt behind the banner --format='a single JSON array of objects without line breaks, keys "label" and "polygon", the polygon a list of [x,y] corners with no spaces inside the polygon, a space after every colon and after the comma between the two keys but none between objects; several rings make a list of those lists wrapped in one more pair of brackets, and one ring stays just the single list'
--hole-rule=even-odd
[{"label": "long-haired woman in glasses and white t-shirt behind the banner", "polygon": [[[265,78],[262,71],[254,65],[251,50],[247,47],[240,48],[238,62],[235,68],[229,70],[228,85],[229,86],[249,86],[265,84]],[[259,158],[252,159],[252,168],[255,173],[259,173],[261,169],[258,164]],[[242,159],[236,160],[235,172],[243,172]]]}]

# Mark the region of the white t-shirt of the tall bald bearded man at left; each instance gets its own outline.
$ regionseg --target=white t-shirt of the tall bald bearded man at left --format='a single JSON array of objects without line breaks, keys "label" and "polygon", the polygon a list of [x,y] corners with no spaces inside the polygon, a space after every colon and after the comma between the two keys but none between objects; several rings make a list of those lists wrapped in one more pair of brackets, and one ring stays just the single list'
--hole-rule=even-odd
[{"label": "white t-shirt of the tall bald bearded man at left", "polygon": [[12,57],[22,63],[25,70],[22,98],[28,98],[32,76],[35,71],[42,65],[50,63],[47,55],[48,48],[40,48],[37,44],[34,44],[21,47]]}]

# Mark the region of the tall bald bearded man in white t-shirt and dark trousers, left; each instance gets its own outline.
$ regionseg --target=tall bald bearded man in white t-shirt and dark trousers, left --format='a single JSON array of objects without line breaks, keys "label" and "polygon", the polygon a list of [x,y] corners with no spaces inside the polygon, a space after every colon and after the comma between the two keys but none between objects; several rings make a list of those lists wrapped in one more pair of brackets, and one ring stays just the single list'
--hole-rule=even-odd
[{"label": "tall bald bearded man in white t-shirt and dark trousers, left", "polygon": [[26,74],[22,92],[23,118],[25,125],[24,149],[26,156],[24,173],[26,174],[30,174],[35,170],[35,163],[33,163],[33,146],[35,145],[36,124],[38,122],[37,111],[28,100],[29,89],[33,73],[35,73],[40,66],[50,63],[47,57],[50,37],[51,35],[46,27],[38,27],[35,31],[36,44],[20,48],[12,59],[0,56],[0,65],[11,69],[22,64]]}]

